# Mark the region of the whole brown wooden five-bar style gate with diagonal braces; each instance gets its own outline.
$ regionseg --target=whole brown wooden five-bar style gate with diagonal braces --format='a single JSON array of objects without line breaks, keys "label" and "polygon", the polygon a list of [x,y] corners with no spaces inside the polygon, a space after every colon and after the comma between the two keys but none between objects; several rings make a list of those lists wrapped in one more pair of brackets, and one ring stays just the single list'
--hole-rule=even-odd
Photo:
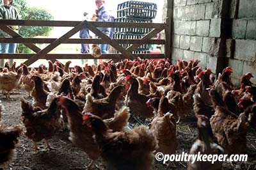
[{"label": "whole brown wooden five-bar style gate with diagonal braces", "polygon": [[[70,31],[65,33],[60,38],[23,38],[8,26],[60,26],[60,27],[73,27]],[[76,34],[81,30],[82,27],[87,27],[99,36],[101,39],[78,39],[70,38],[72,35]],[[147,35],[143,36],[140,40],[131,39],[111,39],[104,35],[97,27],[138,27],[138,28],[152,28]],[[136,50],[142,44],[164,44],[168,49],[170,42],[166,40],[151,40],[153,36],[161,31],[167,30],[166,24],[156,24],[156,23],[131,23],[131,22],[88,22],[84,20],[80,21],[60,21],[60,20],[1,20],[0,29],[11,35],[13,38],[0,38],[0,43],[24,43],[26,47],[36,52],[36,54],[0,54],[1,59],[28,59],[24,63],[26,65],[31,65],[37,59],[51,59],[56,61],[56,59],[93,59],[90,54],[48,54],[52,49],[60,45],[61,43],[108,43],[116,50],[121,52],[121,54],[102,54],[99,59],[122,59],[129,58],[134,59],[140,58],[164,58],[169,57],[169,52],[166,54],[132,54],[131,52]],[[170,36],[170,33],[166,35]],[[168,37],[170,39],[170,37]],[[34,43],[50,43],[44,49],[38,48]],[[124,49],[120,43],[132,44],[127,49]],[[166,47],[164,49],[166,49]],[[170,50],[169,50],[170,51]]]}]

